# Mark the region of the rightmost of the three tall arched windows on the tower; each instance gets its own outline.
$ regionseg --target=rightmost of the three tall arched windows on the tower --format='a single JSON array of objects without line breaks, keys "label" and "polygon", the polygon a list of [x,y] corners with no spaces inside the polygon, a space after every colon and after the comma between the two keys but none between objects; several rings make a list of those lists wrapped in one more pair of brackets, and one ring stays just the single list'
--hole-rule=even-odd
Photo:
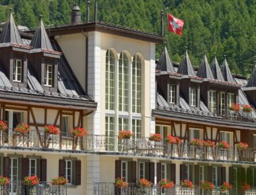
[{"label": "rightmost of the three tall arched windows on the tower", "polygon": [[132,110],[141,113],[141,59],[137,54],[133,57],[132,66]]}]

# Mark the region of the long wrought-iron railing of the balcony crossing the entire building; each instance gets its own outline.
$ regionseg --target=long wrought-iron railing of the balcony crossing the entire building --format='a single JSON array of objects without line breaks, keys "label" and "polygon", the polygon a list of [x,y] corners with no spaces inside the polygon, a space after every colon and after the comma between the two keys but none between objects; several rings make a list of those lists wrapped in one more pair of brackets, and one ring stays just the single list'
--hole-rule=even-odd
[{"label": "long wrought-iron railing of the balcony crossing the entire building", "polygon": [[85,153],[108,153],[113,155],[132,153],[145,156],[164,156],[177,159],[200,159],[212,161],[256,161],[256,149],[237,149],[230,147],[195,147],[191,143],[172,145],[150,141],[148,138],[118,139],[104,135],[86,135],[79,137],[77,142],[73,137],[44,135],[43,131],[30,130],[29,134],[6,134],[1,131],[1,148],[30,149],[40,151],[68,151]]}]

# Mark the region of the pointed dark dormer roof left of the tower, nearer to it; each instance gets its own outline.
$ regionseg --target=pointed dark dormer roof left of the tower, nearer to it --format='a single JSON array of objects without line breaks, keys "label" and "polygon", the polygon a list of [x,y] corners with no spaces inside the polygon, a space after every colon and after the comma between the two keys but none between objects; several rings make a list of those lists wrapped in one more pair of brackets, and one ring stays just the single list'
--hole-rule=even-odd
[{"label": "pointed dark dormer roof left of the tower, nearer to it", "polygon": [[36,29],[30,46],[32,46],[33,49],[53,50],[53,46],[51,45],[49,37],[44,29],[42,18],[40,19],[38,28]]}]

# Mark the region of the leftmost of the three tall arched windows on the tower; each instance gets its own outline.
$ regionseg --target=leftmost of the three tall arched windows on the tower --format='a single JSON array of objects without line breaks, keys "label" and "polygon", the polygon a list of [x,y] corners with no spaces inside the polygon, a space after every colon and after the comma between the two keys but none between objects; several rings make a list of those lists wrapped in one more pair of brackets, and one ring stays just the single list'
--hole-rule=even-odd
[{"label": "leftmost of the three tall arched windows on the tower", "polygon": [[106,110],[115,110],[115,56],[106,51]]}]

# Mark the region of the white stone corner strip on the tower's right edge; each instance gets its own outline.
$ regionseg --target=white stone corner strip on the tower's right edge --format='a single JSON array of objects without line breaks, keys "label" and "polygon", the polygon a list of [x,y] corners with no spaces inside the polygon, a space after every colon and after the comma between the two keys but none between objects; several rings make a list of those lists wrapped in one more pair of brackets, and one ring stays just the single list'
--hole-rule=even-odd
[{"label": "white stone corner strip on the tower's right edge", "polygon": [[[150,104],[151,109],[156,108],[156,44],[150,44]],[[150,132],[153,134],[156,130],[156,120],[151,118]]]}]

